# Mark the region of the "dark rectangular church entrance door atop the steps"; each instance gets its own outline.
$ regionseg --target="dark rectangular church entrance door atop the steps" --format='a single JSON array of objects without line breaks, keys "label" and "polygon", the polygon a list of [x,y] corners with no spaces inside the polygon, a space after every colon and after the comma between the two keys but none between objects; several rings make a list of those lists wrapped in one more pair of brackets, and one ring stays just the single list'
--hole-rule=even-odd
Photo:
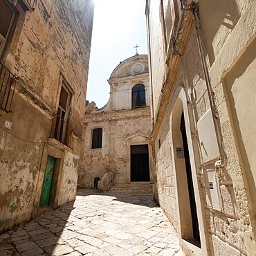
[{"label": "dark rectangular church entrance door atop the steps", "polygon": [[148,145],[131,146],[131,181],[150,181]]}]

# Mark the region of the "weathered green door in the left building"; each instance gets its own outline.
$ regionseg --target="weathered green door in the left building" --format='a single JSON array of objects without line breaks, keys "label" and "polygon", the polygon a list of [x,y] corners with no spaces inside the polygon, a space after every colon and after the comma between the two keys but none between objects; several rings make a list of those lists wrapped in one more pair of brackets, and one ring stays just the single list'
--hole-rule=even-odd
[{"label": "weathered green door in the left building", "polygon": [[44,172],[44,183],[42,186],[39,207],[49,204],[51,186],[53,182],[54,166],[55,166],[55,158],[53,156],[47,156],[47,164],[46,164],[46,170]]}]

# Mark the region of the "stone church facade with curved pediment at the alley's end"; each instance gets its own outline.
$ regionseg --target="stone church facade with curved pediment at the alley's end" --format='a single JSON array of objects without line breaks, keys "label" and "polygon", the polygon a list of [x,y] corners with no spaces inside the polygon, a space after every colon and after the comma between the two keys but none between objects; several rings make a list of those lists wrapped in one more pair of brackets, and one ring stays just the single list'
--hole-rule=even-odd
[{"label": "stone church facade with curved pediment at the alley's end", "polygon": [[92,188],[94,177],[100,178],[103,190],[112,184],[129,189],[133,182],[150,187],[154,176],[147,55],[120,62],[108,82],[109,102],[101,109],[94,102],[86,106],[78,187]]}]

